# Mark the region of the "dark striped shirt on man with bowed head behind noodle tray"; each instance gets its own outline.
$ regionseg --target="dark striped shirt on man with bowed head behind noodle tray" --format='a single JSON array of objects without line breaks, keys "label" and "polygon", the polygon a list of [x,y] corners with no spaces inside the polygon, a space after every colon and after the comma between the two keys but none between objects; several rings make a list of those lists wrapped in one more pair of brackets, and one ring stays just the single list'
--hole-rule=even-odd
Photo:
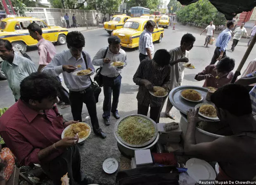
[{"label": "dark striped shirt on man with bowed head behind noodle tray", "polygon": [[161,87],[165,84],[168,85],[168,83],[170,82],[170,71],[170,65],[167,65],[161,71],[157,71],[156,69],[154,69],[152,59],[142,60],[142,62],[140,62],[140,65],[133,76],[134,83],[139,86],[139,92],[137,94],[137,100],[139,104],[145,106],[150,105],[151,107],[162,106],[165,98],[159,98],[150,95],[149,90],[147,90],[147,88],[142,85],[140,81],[142,79],[146,79],[150,81],[153,86]]}]

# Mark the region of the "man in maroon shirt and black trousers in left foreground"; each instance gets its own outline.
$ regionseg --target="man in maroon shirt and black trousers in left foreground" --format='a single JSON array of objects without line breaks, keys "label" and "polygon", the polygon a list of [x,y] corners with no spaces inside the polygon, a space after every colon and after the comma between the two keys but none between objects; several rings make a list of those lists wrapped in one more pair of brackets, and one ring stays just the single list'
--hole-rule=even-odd
[{"label": "man in maroon shirt and black trousers in left foreground", "polygon": [[32,73],[20,85],[21,97],[0,118],[0,135],[21,165],[38,163],[45,173],[61,184],[68,173],[71,182],[92,183],[81,178],[78,138],[61,134],[78,121],[65,121],[55,103],[61,84],[44,73]]}]

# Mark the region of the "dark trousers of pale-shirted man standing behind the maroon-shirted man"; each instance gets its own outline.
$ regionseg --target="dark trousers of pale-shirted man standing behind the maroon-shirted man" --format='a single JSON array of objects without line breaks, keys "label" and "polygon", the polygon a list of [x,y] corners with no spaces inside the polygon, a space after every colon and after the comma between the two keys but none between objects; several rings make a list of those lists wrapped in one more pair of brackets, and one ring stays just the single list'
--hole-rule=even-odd
[{"label": "dark trousers of pale-shirted man standing behind the maroon-shirted man", "polygon": [[94,133],[100,131],[100,125],[97,118],[97,111],[96,111],[96,101],[92,89],[88,87],[87,89],[79,92],[70,91],[69,92],[69,100],[71,106],[71,112],[73,115],[73,120],[75,121],[82,121],[82,109],[83,103],[86,104],[88,113],[91,118],[92,129]]}]

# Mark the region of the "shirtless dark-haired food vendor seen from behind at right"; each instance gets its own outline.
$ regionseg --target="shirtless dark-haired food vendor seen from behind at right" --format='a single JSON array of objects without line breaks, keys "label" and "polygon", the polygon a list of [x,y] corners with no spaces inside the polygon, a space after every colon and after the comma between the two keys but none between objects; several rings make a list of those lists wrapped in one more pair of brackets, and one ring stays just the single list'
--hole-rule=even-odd
[{"label": "shirtless dark-haired food vendor seen from behind at right", "polygon": [[249,180],[256,176],[256,120],[253,118],[251,99],[246,88],[229,84],[211,96],[217,116],[233,132],[212,142],[196,143],[195,131],[198,111],[187,112],[187,132],[184,139],[186,155],[207,161],[216,161],[220,173],[216,180]]}]

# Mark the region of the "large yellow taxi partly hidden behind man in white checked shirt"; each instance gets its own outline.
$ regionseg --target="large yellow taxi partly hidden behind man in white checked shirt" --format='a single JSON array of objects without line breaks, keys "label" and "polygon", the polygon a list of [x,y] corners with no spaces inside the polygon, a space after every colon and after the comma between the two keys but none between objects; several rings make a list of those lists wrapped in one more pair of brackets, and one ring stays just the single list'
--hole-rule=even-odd
[{"label": "large yellow taxi partly hidden behind man in white checked shirt", "polygon": [[[148,18],[129,18],[123,28],[114,30],[112,35],[116,35],[121,40],[121,46],[135,48],[139,46],[140,34],[146,27]],[[164,28],[154,28],[152,33],[153,42],[160,43],[164,36]]]}]

